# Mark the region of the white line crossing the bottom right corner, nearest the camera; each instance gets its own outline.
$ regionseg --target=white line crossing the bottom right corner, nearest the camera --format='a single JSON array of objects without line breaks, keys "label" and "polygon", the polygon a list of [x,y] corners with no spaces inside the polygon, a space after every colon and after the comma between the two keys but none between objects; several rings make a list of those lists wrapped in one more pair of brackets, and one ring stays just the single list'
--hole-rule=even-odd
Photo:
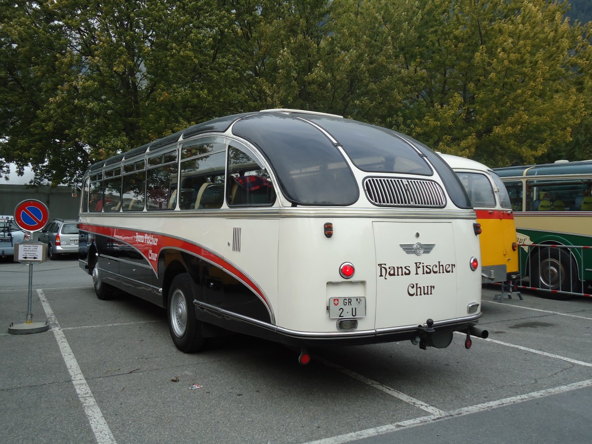
[{"label": "white line crossing the bottom right corner, nearest the camera", "polygon": [[[333,436],[326,439],[319,439],[310,441],[306,444],[343,444],[352,442],[358,439],[368,438],[372,436],[385,435],[386,433],[397,432],[398,430],[410,429],[411,427],[422,426],[423,424],[434,423],[446,419],[458,418],[473,413],[480,413],[481,411],[493,410],[498,407],[511,406],[513,404],[520,404],[525,401],[532,401],[547,396],[565,393],[572,390],[579,390],[580,388],[592,387],[592,379],[586,381],[574,382],[573,384],[560,385],[559,387],[546,388],[545,390],[533,391],[524,395],[517,395],[510,398],[504,398],[489,403],[477,404],[471,407],[458,408],[456,410],[444,411],[442,414],[434,414],[430,416],[422,416],[419,418],[401,421],[394,424],[387,424],[385,426],[373,427],[372,429],[358,430],[358,432],[346,433],[345,435]],[[394,440],[393,440],[394,442]]]}]

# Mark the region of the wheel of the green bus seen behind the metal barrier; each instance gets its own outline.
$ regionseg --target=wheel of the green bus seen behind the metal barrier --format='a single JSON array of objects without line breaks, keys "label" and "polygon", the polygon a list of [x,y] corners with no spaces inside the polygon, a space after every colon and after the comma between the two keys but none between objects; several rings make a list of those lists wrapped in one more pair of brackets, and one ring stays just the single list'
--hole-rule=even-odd
[{"label": "wheel of the green bus seen behind the metal barrier", "polygon": [[[582,282],[578,278],[577,263],[570,253],[559,248],[543,248],[533,256],[530,266],[532,287],[545,290],[582,292]],[[549,299],[564,300],[569,294],[547,293]]]}]

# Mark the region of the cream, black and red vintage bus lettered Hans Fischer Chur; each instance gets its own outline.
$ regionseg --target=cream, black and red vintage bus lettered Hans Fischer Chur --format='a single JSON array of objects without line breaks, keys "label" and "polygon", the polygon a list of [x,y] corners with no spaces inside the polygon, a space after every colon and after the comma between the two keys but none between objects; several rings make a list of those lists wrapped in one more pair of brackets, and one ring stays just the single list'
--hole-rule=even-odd
[{"label": "cream, black and red vintage bus lettered Hans Fischer Chur", "polygon": [[422,143],[336,115],[246,112],[95,163],[80,264],[166,308],[173,342],[225,331],[307,346],[487,336],[478,225]]}]

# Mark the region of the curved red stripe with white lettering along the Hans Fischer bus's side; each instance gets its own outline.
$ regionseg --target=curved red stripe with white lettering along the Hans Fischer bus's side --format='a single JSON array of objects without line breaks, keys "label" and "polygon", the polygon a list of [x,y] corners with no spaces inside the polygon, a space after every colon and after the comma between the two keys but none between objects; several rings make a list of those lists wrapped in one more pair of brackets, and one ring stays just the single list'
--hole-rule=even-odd
[{"label": "curved red stripe with white lettering along the Hans Fischer bus's side", "polygon": [[102,227],[96,225],[89,225],[81,223],[79,226],[80,230],[88,231],[89,233],[93,234],[100,234],[101,236],[112,237],[113,239],[120,240],[121,242],[127,243],[133,247],[135,247],[146,260],[152,265],[153,270],[157,274],[157,267],[158,267],[158,255],[160,250],[163,248],[175,248],[179,249],[188,253],[193,253],[194,255],[199,256],[207,260],[208,262],[212,262],[215,265],[220,266],[231,275],[238,278],[240,281],[244,282],[250,289],[252,289],[256,294],[258,294],[261,299],[265,302],[268,306],[269,310],[271,311],[271,304],[263,294],[262,289],[258,287],[249,277],[247,277],[242,271],[236,268],[231,263],[227,262],[220,256],[216,255],[214,252],[205,249],[204,247],[199,246],[198,244],[188,242],[186,240],[177,239],[176,237],[165,236],[163,234],[153,234],[147,231],[139,230],[127,230],[127,229],[120,229],[114,227]]}]

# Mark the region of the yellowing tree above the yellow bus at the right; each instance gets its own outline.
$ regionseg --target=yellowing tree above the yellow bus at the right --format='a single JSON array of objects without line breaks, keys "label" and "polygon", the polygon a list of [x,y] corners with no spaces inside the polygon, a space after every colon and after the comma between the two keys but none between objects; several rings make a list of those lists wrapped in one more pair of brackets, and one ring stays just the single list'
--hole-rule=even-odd
[{"label": "yellowing tree above the yellow bus at the right", "polygon": [[570,139],[587,41],[546,0],[423,2],[411,53],[424,72],[403,120],[437,150],[490,166],[533,163]]}]

